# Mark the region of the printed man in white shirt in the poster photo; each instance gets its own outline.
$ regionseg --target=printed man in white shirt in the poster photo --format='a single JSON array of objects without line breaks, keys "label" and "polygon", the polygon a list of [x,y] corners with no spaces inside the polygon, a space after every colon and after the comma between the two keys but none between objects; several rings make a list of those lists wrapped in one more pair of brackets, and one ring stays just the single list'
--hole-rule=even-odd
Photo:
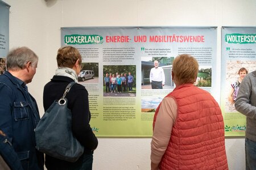
[{"label": "printed man in white shirt in the poster photo", "polygon": [[158,61],[154,61],[155,67],[150,70],[150,84],[152,89],[163,89],[165,83],[164,71],[159,67]]}]

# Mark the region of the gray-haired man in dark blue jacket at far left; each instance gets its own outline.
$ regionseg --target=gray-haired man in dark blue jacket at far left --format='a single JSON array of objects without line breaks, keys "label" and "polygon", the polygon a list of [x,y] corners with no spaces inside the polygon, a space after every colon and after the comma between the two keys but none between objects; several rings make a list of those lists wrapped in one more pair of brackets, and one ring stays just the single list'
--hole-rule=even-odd
[{"label": "gray-haired man in dark blue jacket at far left", "polygon": [[36,150],[35,131],[40,120],[38,106],[27,90],[38,65],[38,56],[27,47],[13,49],[0,75],[0,129],[5,131],[23,169],[43,169],[43,154]]}]

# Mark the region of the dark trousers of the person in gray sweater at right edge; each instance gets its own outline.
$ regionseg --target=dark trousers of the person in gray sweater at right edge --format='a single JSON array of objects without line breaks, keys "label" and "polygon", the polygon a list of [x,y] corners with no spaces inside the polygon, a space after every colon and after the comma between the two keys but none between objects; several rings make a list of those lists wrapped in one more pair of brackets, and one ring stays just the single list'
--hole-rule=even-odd
[{"label": "dark trousers of the person in gray sweater at right edge", "polygon": [[245,138],[246,170],[256,169],[256,142]]}]

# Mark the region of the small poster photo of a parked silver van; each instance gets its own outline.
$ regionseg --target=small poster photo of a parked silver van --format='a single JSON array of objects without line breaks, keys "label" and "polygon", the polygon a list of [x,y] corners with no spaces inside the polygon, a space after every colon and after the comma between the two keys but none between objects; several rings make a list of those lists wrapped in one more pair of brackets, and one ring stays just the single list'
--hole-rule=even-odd
[{"label": "small poster photo of a parked silver van", "polygon": [[82,62],[78,80],[80,84],[98,83],[98,63]]}]

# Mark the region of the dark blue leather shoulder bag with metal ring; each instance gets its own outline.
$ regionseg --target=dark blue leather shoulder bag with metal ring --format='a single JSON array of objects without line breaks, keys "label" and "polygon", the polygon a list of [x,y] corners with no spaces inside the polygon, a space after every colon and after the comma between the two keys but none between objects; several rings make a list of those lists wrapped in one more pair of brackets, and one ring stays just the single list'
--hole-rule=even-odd
[{"label": "dark blue leather shoulder bag with metal ring", "polygon": [[64,95],[53,101],[35,129],[36,148],[53,158],[76,162],[84,147],[73,136],[72,113],[68,109],[68,94],[75,82],[68,84]]}]

